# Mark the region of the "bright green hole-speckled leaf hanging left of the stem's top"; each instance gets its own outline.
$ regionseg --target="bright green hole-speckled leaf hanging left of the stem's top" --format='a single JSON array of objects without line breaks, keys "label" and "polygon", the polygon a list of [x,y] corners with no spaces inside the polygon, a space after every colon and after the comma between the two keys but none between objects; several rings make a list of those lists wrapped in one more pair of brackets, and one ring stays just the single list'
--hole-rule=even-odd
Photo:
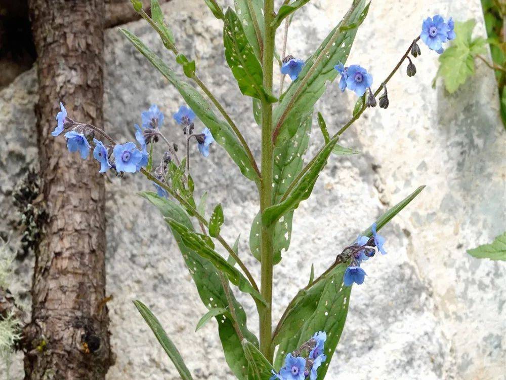
[{"label": "bright green hole-speckled leaf hanging left of the stem's top", "polygon": [[242,94],[257,99],[266,98],[262,66],[246,38],[239,18],[230,8],[225,13],[223,44],[225,58]]}]

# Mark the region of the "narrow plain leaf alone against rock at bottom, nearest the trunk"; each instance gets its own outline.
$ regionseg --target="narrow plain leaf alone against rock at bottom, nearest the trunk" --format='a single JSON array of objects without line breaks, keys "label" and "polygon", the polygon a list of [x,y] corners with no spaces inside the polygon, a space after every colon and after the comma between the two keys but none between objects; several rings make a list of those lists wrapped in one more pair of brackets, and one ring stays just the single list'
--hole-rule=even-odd
[{"label": "narrow plain leaf alone against rock at bottom, nearest the trunk", "polygon": [[176,366],[176,369],[178,370],[181,378],[183,380],[192,380],[190,371],[186,367],[181,354],[179,353],[174,343],[172,343],[172,340],[167,336],[165,330],[163,330],[163,327],[161,327],[158,319],[156,319],[153,313],[151,313],[151,311],[141,301],[135,300],[134,305],[137,310],[139,310],[139,313],[141,313],[142,318],[144,318],[148,326],[155,334],[156,339],[158,339],[158,342],[160,343],[161,347],[163,347],[163,350],[165,350],[168,357]]}]

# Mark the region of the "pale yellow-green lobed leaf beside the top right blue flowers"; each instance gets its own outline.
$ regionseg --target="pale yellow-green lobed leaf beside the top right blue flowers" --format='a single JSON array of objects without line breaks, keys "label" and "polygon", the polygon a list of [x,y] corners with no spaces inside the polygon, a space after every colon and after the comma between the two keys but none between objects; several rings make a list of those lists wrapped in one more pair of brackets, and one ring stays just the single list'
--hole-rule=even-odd
[{"label": "pale yellow-green lobed leaf beside the top right blue flowers", "polygon": [[466,83],[475,73],[474,57],[484,52],[486,40],[473,40],[473,29],[476,21],[455,22],[456,38],[452,46],[439,56],[437,76],[444,80],[446,90],[451,94]]}]

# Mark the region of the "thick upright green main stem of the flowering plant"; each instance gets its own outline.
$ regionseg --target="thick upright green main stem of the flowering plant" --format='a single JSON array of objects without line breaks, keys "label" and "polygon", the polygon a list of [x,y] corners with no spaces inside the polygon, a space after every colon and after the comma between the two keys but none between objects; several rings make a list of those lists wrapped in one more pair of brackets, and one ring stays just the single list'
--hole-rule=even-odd
[{"label": "thick upright green main stem of the flowering plant", "polygon": [[[274,36],[275,28],[271,26],[274,13],[274,0],[265,0],[265,30],[264,30],[264,54],[262,67],[264,71],[264,89],[272,92],[272,71],[274,67]],[[260,212],[263,214],[266,208],[272,206],[272,180],[273,180],[273,150],[272,143],[272,103],[267,99],[262,100],[262,183],[260,185]],[[260,315],[260,351],[272,361],[272,256],[273,256],[273,226],[262,225],[260,254],[262,260],[262,275],[260,292],[267,302],[262,306]]]}]

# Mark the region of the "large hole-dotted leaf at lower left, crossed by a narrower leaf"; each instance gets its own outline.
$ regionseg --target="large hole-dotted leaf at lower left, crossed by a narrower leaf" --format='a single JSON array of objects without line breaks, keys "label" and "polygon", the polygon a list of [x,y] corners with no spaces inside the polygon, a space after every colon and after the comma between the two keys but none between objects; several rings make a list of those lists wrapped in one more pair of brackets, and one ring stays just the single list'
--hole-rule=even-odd
[{"label": "large hole-dotted leaf at lower left, crossed by a narrower leaf", "polygon": [[[166,198],[160,198],[154,192],[143,192],[140,195],[156,206],[164,217],[177,220],[193,231],[193,225],[188,215],[175,202]],[[193,250],[188,249],[176,231],[173,230],[172,233],[174,234],[174,238],[178,243],[186,266],[195,282],[198,294],[204,305],[209,310],[213,308],[228,308],[225,289],[223,288],[220,276],[214,265],[208,260],[200,257]],[[243,336],[250,342],[258,345],[257,337],[247,328],[244,308],[235,299],[233,293],[230,293],[230,296],[232,297],[237,323]],[[217,316],[215,318],[218,321],[218,332],[228,365],[237,378],[246,379],[248,363],[242,350],[241,340],[237,336],[232,320],[226,316]]]}]

